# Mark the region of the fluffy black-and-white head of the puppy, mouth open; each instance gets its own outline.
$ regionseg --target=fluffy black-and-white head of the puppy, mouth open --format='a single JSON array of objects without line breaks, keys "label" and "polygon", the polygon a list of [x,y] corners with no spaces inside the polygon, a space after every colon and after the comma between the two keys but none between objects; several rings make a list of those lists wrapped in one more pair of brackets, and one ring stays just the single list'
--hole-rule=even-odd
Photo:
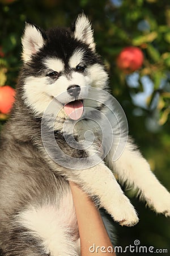
[{"label": "fluffy black-and-white head of the puppy, mouth open", "polygon": [[79,119],[85,106],[100,106],[88,100],[90,88],[105,88],[108,75],[95,52],[91,23],[84,14],[73,28],[42,31],[26,24],[22,45],[22,98],[33,113],[42,116],[53,101],[49,114]]}]

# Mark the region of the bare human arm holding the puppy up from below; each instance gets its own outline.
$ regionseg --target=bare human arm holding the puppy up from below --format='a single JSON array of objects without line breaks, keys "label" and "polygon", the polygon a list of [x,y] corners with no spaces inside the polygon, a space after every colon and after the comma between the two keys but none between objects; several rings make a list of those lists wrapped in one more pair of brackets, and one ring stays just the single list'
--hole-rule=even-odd
[{"label": "bare human arm holding the puppy up from below", "polygon": [[[94,203],[86,193],[78,187],[78,185],[70,181],[70,187],[73,194],[76,218],[78,221],[81,256],[92,255],[90,247],[94,245],[95,252],[93,255],[116,255],[114,252],[102,252],[102,250],[107,251],[108,247],[111,249],[113,246],[99,210],[96,209]],[[98,249],[97,246],[99,246]]]}]

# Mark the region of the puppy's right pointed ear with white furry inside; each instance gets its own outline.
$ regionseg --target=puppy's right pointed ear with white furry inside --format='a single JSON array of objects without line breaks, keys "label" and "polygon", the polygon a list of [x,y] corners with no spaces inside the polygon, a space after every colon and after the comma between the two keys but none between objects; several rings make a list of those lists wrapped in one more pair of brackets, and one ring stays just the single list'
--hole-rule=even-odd
[{"label": "puppy's right pointed ear with white furry inside", "polygon": [[94,33],[90,20],[84,14],[80,14],[75,21],[74,37],[86,44],[95,51]]}]

